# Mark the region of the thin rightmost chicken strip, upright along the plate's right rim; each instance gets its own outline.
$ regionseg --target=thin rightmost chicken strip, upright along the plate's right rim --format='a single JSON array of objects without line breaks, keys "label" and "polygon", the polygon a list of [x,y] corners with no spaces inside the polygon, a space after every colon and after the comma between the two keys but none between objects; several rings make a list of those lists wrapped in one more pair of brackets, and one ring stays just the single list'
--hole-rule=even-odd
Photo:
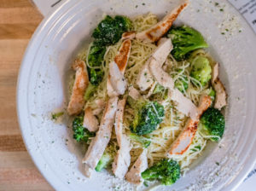
[{"label": "thin rightmost chicken strip, upright along the plate's right rim", "polygon": [[214,102],[214,108],[221,110],[222,107],[227,105],[227,93],[224,88],[224,84],[218,78],[219,64],[216,63],[212,68],[212,86],[216,91],[216,97]]}]

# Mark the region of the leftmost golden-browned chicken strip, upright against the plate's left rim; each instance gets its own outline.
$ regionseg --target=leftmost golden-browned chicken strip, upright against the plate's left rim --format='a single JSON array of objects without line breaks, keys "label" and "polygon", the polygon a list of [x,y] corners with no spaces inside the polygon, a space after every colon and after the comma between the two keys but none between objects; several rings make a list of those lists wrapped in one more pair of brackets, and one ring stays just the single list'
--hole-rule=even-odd
[{"label": "leftmost golden-browned chicken strip, upright against the plate's left rim", "polygon": [[72,95],[67,106],[69,115],[79,114],[84,108],[84,91],[89,84],[89,77],[84,61],[79,59],[73,62],[73,70],[76,71]]}]

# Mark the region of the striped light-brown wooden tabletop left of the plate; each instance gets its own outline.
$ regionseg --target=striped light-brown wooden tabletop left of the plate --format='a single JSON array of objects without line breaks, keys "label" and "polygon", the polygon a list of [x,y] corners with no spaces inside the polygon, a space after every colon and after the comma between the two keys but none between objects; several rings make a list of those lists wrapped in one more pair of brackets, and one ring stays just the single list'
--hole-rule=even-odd
[{"label": "striped light-brown wooden tabletop left of the plate", "polygon": [[53,190],[26,152],[15,101],[20,61],[42,19],[29,0],[0,0],[0,191]]}]

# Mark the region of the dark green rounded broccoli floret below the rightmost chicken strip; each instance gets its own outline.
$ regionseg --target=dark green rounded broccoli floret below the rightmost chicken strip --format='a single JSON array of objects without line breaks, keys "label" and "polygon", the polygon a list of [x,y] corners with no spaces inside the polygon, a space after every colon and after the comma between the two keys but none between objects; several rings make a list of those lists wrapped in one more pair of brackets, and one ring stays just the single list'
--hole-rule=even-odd
[{"label": "dark green rounded broccoli floret below the rightmost chicken strip", "polygon": [[202,114],[200,130],[206,136],[216,136],[211,138],[212,142],[218,142],[224,134],[224,128],[225,119],[218,109],[210,107]]}]

